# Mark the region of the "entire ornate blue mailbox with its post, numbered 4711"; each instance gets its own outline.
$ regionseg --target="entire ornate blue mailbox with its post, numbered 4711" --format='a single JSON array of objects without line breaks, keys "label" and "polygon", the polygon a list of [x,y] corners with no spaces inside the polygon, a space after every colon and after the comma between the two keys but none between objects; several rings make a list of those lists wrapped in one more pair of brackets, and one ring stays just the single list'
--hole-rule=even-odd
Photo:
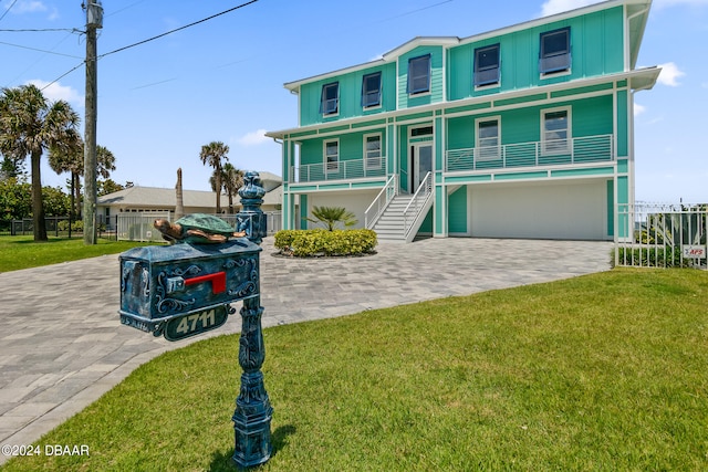
[{"label": "entire ornate blue mailbox with its post, numbered 4711", "polygon": [[[179,243],[134,248],[121,254],[118,313],[124,325],[179,340],[223,325],[236,313],[231,303],[243,301],[238,354],[243,373],[231,417],[236,437],[231,459],[237,465],[251,466],[264,463],[272,453],[273,409],[260,370],[266,350],[258,244],[266,235],[266,218],[260,210],[266,191],[258,172],[247,172],[243,180],[246,185],[239,190],[243,211],[237,216],[236,230],[244,237],[227,240],[220,224],[214,224],[220,235],[209,234],[206,227],[214,217],[208,216],[188,218],[191,228],[184,222],[180,227],[181,219],[171,225],[156,222],[156,228],[169,230]],[[194,228],[195,221],[205,228]],[[199,237],[208,243],[198,243]],[[225,242],[212,243],[215,240]]]}]

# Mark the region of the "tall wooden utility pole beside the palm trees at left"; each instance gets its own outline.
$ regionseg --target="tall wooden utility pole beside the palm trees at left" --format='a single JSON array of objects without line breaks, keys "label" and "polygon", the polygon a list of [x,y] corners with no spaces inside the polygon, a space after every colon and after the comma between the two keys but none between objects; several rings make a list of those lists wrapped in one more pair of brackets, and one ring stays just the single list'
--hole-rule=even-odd
[{"label": "tall wooden utility pole beside the palm trees at left", "polygon": [[86,109],[84,128],[84,244],[96,243],[96,29],[103,28],[101,0],[87,0],[86,9]]}]

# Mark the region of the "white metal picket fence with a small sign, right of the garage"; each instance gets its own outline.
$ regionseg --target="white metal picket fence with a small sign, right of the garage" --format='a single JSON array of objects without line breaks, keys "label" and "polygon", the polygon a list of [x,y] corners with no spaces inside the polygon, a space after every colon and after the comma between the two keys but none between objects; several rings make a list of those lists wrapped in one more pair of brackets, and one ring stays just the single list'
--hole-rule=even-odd
[{"label": "white metal picket fence with a small sign, right of the garage", "polygon": [[617,210],[615,265],[707,269],[707,204],[634,203]]}]

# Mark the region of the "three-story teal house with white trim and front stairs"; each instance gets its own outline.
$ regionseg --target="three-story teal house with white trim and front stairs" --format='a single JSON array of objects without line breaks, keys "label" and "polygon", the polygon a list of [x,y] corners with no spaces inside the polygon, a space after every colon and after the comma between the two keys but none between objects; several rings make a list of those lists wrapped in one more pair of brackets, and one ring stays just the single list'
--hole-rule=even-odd
[{"label": "three-story teal house with white trim and front stairs", "polygon": [[381,239],[627,235],[634,93],[660,72],[635,69],[650,4],[415,38],[287,83],[299,126],[267,134],[282,141],[283,228],[341,206]]}]

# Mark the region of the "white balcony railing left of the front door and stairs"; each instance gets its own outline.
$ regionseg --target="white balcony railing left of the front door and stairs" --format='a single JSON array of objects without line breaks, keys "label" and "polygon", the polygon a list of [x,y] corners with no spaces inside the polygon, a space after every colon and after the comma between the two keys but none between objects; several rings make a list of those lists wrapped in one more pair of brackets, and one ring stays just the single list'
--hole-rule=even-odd
[{"label": "white balcony railing left of the front door and stairs", "polygon": [[319,182],[385,177],[386,157],[347,159],[326,164],[308,164],[290,168],[290,182]]}]

